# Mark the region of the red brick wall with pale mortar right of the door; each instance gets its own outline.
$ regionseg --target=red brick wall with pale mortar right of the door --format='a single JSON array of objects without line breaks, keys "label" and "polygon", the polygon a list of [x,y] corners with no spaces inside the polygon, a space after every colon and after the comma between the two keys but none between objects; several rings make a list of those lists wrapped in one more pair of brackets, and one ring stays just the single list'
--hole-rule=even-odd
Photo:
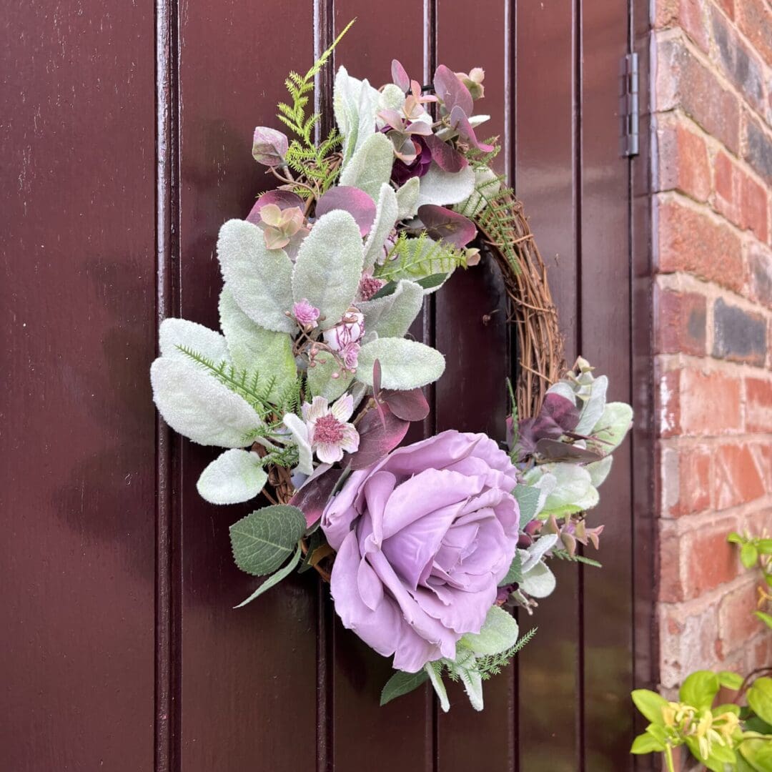
[{"label": "red brick wall with pale mortar right of the door", "polygon": [[772,663],[730,530],[772,531],[772,5],[655,0],[659,673]]}]

